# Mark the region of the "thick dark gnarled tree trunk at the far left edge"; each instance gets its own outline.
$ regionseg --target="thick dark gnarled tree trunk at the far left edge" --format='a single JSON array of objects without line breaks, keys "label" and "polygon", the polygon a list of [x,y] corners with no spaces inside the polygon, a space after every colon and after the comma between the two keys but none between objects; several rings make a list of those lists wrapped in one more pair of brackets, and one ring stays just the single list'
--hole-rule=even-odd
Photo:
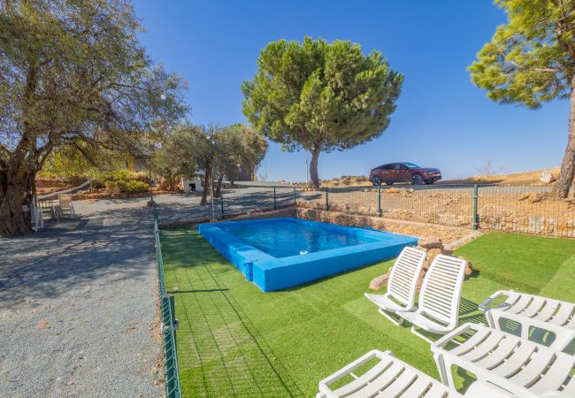
[{"label": "thick dark gnarled tree trunk at the far left edge", "polygon": [[[36,172],[0,170],[0,236],[32,232]],[[25,207],[26,206],[26,207]],[[26,209],[26,210],[25,210]]]}]

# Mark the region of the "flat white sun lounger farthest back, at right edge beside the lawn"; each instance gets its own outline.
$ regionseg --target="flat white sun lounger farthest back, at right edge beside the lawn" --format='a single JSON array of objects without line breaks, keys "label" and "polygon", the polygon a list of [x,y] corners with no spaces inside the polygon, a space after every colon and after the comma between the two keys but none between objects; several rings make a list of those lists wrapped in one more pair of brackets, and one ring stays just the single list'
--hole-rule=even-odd
[{"label": "flat white sun lounger farthest back, at right edge beside the lawn", "polygon": [[[500,296],[508,296],[495,308],[489,305]],[[479,310],[485,312],[489,326],[501,330],[502,319],[510,319],[521,325],[521,337],[529,339],[532,327],[555,333],[556,339],[550,348],[559,351],[566,348],[575,339],[575,304],[528,295],[513,290],[500,290],[479,304]]]}]

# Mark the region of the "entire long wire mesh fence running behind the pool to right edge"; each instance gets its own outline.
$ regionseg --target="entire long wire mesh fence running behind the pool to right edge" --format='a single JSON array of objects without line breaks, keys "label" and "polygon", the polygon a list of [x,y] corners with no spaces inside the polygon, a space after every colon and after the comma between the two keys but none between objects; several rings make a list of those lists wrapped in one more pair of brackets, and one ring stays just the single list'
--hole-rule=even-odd
[{"label": "entire long wire mesh fence running behind the pool to right edge", "polygon": [[[297,204],[322,210],[513,233],[575,237],[575,198],[551,197],[545,185],[487,184],[330,187],[309,191],[294,187],[228,188],[213,205],[188,204],[162,210],[164,225],[194,218],[230,218],[254,210]],[[196,222],[199,222],[196,220]]]}]

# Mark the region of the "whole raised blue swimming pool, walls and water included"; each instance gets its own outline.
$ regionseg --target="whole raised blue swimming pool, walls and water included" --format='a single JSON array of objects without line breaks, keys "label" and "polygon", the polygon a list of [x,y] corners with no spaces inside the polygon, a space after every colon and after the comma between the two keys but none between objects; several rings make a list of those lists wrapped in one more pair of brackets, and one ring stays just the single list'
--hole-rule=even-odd
[{"label": "whole raised blue swimming pool, walls and water included", "polygon": [[265,292],[392,258],[418,242],[412,236],[299,218],[200,224],[198,231]]}]

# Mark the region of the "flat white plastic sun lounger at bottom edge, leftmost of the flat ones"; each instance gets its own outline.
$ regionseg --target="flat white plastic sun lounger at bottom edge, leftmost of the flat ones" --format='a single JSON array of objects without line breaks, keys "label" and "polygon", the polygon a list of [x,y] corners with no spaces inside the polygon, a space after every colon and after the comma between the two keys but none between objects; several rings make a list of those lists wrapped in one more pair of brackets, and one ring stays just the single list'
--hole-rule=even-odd
[{"label": "flat white plastic sun lounger at bottom edge, leftmost of the flat ones", "polygon": [[[374,359],[379,359],[377,364],[361,376],[356,376],[354,371]],[[345,386],[332,390],[330,385],[346,377],[353,378]],[[451,398],[451,397],[474,397],[474,398],[499,398],[509,397],[501,389],[487,383],[475,382],[467,389],[465,395],[457,393],[453,388],[447,387],[439,380],[433,379],[423,371],[404,363],[395,358],[391,351],[381,352],[372,349],[364,356],[357,358],[351,364],[336,371],[331,376],[319,382],[317,398],[334,397],[426,397],[426,398]]]}]

